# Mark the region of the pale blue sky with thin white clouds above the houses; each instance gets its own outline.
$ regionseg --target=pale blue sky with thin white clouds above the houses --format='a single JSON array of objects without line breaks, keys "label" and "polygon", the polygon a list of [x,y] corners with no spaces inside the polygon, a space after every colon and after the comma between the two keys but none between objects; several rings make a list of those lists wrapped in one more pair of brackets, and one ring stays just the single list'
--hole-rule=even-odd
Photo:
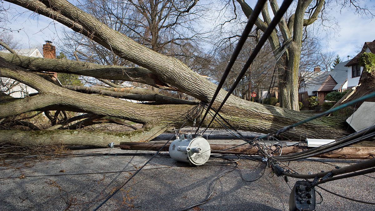
[{"label": "pale blue sky with thin white clouds above the houses", "polygon": [[[252,6],[254,1],[249,2]],[[375,14],[375,2],[366,2],[369,8],[372,7]],[[56,23],[42,15],[34,15],[20,6],[3,2],[3,7],[12,8],[12,14],[19,14],[7,24],[8,28],[15,30],[12,32],[13,38],[19,41],[21,48],[40,48],[45,44],[45,40],[58,42],[62,36],[62,24]],[[341,10],[341,11],[340,11]],[[375,20],[366,15],[358,15],[353,8],[343,8],[339,6],[327,8],[329,18],[338,23],[335,30],[330,30],[327,34],[322,31],[320,23],[316,22],[317,36],[321,38],[321,46],[325,51],[332,51],[338,54],[343,61],[349,55],[353,58],[359,53],[365,42],[375,40]],[[66,27],[65,27],[66,28]],[[18,30],[20,29],[20,30]],[[39,49],[40,51],[42,49]]]}]

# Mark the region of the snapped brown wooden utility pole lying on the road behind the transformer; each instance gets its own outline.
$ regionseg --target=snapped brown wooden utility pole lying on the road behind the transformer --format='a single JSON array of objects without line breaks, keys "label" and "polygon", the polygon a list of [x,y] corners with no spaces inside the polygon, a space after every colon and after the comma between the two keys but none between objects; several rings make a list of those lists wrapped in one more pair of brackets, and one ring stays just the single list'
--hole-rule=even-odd
[{"label": "snapped brown wooden utility pole lying on the road behind the transformer", "polygon": [[[120,145],[114,145],[125,150],[148,150],[158,151],[165,142],[121,142]],[[161,151],[168,151],[170,143],[166,144]],[[210,144],[211,153],[217,154],[236,154],[236,155],[256,155],[258,149],[252,145],[242,145],[233,149],[220,151],[223,149],[237,146],[235,144]],[[289,146],[282,149],[282,155],[292,154],[305,150],[300,146]],[[340,159],[372,159],[375,157],[375,147],[345,147],[333,152],[314,156],[317,158],[340,158]]]}]

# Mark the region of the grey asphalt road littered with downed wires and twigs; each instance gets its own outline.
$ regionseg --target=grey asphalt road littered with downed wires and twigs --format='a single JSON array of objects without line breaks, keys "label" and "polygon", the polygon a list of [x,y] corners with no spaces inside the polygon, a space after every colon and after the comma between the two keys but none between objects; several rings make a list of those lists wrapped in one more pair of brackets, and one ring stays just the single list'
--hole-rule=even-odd
[{"label": "grey asphalt road littered with downed wires and twigs", "polygon": [[[70,155],[2,162],[0,210],[93,210],[151,158],[149,154],[129,153],[153,152],[85,149],[67,152]],[[291,191],[288,184],[293,187],[297,179],[290,178],[287,184],[284,178],[273,176],[264,163],[241,157],[234,167],[237,164],[228,163],[229,160],[211,158],[209,163],[195,167],[178,163],[165,156],[166,153],[162,155],[151,160],[99,210],[182,210],[207,199],[212,191],[207,202],[191,210],[288,210]],[[226,158],[237,160],[237,157]],[[359,161],[314,159],[294,161],[289,166],[299,173],[318,173]],[[217,179],[220,175],[223,176]],[[375,173],[369,175],[375,177]],[[375,202],[374,181],[368,176],[357,176],[327,182],[322,187],[347,197]],[[375,205],[317,190],[323,196],[321,205],[316,206],[317,211],[375,210]]]}]

